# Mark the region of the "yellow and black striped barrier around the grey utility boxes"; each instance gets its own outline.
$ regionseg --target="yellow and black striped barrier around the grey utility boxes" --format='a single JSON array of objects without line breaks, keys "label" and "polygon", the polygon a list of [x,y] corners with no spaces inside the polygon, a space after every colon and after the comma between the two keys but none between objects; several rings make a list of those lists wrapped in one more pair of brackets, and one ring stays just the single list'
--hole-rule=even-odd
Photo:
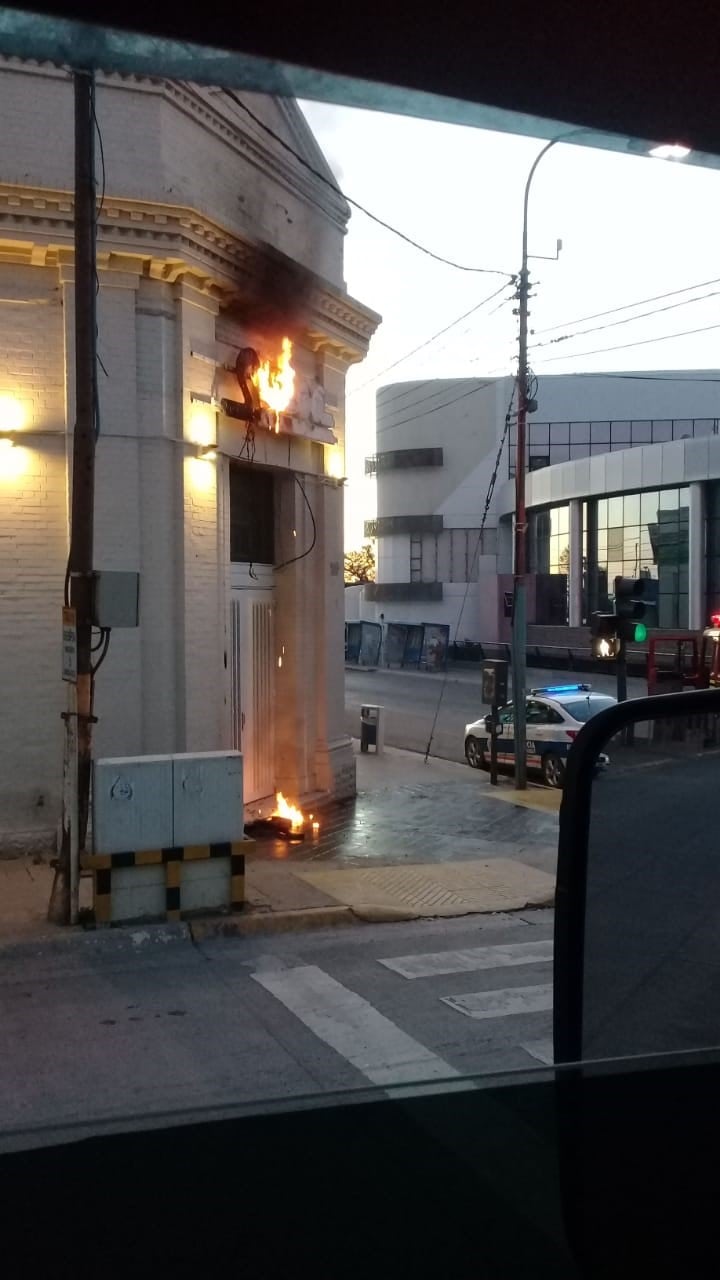
[{"label": "yellow and black striped barrier around the grey utility boxes", "polygon": [[255,845],[254,840],[222,841],[214,845],[176,845],[169,849],[131,850],[120,854],[83,854],[81,867],[92,872],[94,910],[96,924],[113,922],[113,872],[128,867],[165,868],[165,919],[179,920],[182,864],[209,858],[229,858],[231,911],[241,911],[245,905],[245,855]]}]

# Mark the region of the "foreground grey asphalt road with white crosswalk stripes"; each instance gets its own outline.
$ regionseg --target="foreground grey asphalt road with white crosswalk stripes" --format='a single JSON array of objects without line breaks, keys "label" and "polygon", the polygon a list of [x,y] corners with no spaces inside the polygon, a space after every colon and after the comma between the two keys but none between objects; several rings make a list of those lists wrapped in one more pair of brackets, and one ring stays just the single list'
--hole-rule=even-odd
[{"label": "foreground grey asphalt road with white crosswalk stripes", "polygon": [[[539,1066],[552,913],[1,955],[0,1149],[104,1121]],[[69,1129],[68,1129],[69,1126]]]}]

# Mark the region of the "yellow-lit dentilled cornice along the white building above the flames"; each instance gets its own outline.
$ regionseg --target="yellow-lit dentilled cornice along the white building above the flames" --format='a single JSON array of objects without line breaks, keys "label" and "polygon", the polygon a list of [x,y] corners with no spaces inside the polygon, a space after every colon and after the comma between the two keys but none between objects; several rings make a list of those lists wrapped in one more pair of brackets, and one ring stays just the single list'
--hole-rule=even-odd
[{"label": "yellow-lit dentilled cornice along the white building above the flames", "polygon": [[[73,196],[67,191],[0,183],[0,261],[35,266],[73,257]],[[232,310],[259,294],[268,274],[284,266],[297,276],[297,323],[310,344],[347,364],[361,360],[380,317],[269,244],[229,232],[196,209],[105,196],[97,225],[99,260],[176,284],[187,279]]]}]

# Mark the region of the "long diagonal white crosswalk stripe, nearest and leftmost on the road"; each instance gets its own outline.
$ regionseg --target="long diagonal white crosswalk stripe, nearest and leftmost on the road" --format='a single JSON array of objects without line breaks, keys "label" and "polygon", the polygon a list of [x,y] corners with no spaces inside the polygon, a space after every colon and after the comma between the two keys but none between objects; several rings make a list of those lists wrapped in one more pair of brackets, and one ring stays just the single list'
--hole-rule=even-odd
[{"label": "long diagonal white crosswalk stripe, nearest and leftmost on the road", "polygon": [[460,1074],[316,965],[263,969],[252,978],[373,1084],[411,1084]]}]

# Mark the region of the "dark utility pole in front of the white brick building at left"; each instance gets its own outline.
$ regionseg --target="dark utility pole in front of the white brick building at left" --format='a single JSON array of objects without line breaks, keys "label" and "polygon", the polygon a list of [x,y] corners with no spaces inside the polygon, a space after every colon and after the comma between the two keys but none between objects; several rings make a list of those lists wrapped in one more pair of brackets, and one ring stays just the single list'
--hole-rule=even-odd
[{"label": "dark utility pole in front of the white brick building at left", "polygon": [[63,787],[63,835],[49,919],[73,924],[78,914],[79,851],[85,847],[92,762],[92,543],[97,388],[95,76],[73,72],[74,90],[74,328],[76,422],[73,434],[70,550],[65,605],[74,612],[77,677],[69,685]]}]

